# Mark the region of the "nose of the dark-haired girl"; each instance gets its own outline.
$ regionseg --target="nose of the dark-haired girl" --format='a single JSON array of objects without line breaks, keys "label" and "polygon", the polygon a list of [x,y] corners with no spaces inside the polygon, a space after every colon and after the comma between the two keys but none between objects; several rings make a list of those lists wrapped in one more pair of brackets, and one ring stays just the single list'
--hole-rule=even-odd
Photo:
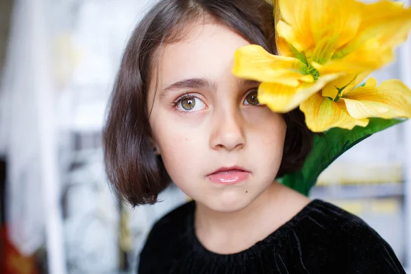
[{"label": "nose of the dark-haired girl", "polygon": [[242,149],[246,140],[244,123],[239,111],[228,110],[216,115],[210,136],[210,147],[227,151]]}]

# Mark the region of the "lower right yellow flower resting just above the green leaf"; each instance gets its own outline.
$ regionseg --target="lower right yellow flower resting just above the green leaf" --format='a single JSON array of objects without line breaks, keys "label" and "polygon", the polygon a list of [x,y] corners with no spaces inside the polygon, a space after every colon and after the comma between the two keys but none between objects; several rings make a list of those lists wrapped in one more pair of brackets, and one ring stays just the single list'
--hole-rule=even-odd
[{"label": "lower right yellow flower resting just above the green leaf", "polygon": [[367,75],[340,77],[303,101],[300,109],[306,114],[308,128],[324,132],[331,127],[365,127],[371,117],[411,118],[411,90],[406,85],[392,79],[377,87],[377,80],[369,78],[364,86],[358,86]]}]

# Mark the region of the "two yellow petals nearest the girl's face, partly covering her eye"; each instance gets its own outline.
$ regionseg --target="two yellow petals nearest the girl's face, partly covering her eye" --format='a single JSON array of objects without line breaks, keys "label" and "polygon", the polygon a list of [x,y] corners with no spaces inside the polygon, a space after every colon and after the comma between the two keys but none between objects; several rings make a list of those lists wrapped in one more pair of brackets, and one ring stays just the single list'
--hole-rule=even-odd
[{"label": "two yellow petals nearest the girl's face, partly covering her eye", "polygon": [[258,101],[274,112],[289,112],[297,108],[327,82],[345,75],[331,71],[319,77],[316,69],[297,58],[273,55],[258,45],[238,49],[235,60],[234,75],[261,82]]}]

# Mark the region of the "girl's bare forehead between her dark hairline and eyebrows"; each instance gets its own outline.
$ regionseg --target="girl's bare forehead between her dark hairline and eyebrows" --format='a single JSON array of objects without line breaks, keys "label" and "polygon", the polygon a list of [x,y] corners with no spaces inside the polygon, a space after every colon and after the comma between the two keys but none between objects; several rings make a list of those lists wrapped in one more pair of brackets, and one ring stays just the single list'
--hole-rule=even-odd
[{"label": "girl's bare forehead between her dark hairline and eyebrows", "polygon": [[239,34],[216,23],[192,24],[182,40],[161,47],[158,59],[159,87],[187,78],[219,81],[231,75],[236,49],[249,45]]}]

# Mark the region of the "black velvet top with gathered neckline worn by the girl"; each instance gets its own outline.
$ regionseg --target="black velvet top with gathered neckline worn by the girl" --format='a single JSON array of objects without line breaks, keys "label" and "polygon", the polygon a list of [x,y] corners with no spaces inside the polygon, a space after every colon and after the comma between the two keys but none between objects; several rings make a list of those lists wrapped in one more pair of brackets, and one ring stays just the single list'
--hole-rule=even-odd
[{"label": "black velvet top with gathered neckline worn by the girl", "polygon": [[264,240],[229,255],[201,245],[194,211],[186,203],[154,225],[138,273],[406,273],[374,229],[325,201],[311,201]]}]

